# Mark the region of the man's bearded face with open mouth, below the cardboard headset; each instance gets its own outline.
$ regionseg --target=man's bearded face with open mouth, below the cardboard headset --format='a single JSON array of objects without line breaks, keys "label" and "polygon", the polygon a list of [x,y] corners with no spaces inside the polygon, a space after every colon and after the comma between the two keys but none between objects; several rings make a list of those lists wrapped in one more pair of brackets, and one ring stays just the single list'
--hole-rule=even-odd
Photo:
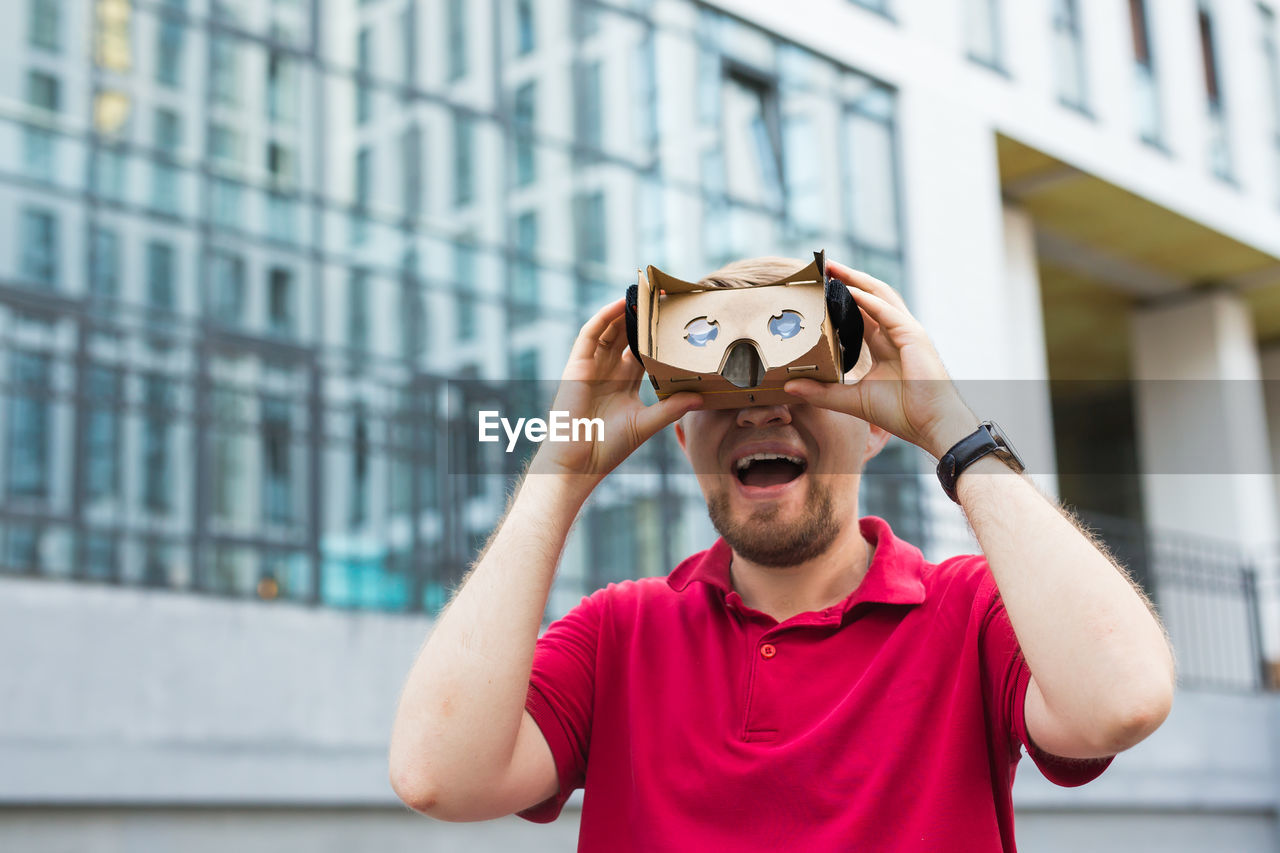
[{"label": "man's bearded face with open mouth, below the cardboard headset", "polygon": [[863,465],[888,438],[867,421],[805,403],[692,411],[676,437],[716,530],[764,566],[794,566],[856,524]]}]

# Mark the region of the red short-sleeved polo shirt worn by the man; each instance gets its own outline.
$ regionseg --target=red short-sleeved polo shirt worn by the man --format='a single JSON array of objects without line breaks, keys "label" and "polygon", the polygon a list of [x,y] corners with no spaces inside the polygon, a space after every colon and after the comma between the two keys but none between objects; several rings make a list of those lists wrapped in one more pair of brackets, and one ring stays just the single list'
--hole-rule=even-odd
[{"label": "red short-sleeved polo shirt worn by the man", "polygon": [[925,562],[876,517],[849,598],[785,622],[742,603],[723,539],[609,584],[538,640],[526,706],[579,850],[1014,850],[1020,747],[1051,781],[1111,763],[1034,748],[1030,672],[983,557]]}]

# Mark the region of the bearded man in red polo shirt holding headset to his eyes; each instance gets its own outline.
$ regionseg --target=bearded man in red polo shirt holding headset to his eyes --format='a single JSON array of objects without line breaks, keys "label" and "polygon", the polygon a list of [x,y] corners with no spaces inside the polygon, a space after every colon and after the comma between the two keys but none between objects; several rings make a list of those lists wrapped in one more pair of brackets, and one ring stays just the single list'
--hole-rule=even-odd
[{"label": "bearded man in red polo shirt holding headset to his eyes", "polygon": [[[541,446],[413,665],[390,751],[406,803],[550,821],[585,785],[581,850],[1012,850],[1020,748],[1079,785],[1165,720],[1174,662],[1148,602],[1004,460],[954,484],[984,557],[931,565],[859,521],[860,471],[890,434],[942,457],[979,420],[897,293],[828,270],[873,368],[792,380],[791,405],[646,407],[621,300],[586,323],[556,409],[603,418],[604,441]],[[671,423],[722,539],[536,639],[582,502]]]}]

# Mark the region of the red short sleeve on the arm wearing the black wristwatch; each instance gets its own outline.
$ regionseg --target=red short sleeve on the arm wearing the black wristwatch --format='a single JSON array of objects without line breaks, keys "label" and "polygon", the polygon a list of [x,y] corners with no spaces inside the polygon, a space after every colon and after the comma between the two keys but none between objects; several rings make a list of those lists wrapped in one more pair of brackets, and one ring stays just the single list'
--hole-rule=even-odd
[{"label": "red short sleeve on the arm wearing the black wristwatch", "polygon": [[1014,634],[1014,625],[1005,611],[1005,602],[991,584],[991,601],[982,625],[983,675],[992,692],[992,707],[996,710],[998,730],[1009,735],[1011,754],[1019,745],[1027,748],[1036,767],[1055,785],[1075,788],[1091,783],[1102,775],[1115,756],[1106,758],[1065,758],[1044,752],[1027,733],[1027,688],[1032,671],[1023,657],[1023,649]]}]

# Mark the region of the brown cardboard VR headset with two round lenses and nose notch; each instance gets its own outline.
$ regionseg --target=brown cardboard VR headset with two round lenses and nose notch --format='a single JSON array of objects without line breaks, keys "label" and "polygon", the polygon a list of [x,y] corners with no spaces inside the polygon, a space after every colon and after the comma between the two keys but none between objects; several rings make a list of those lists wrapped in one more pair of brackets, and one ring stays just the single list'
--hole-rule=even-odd
[{"label": "brown cardboard VR headset with two round lenses and nose notch", "polygon": [[786,278],[741,288],[699,287],[650,265],[627,288],[626,323],[658,398],[696,391],[707,409],[795,402],[788,379],[845,382],[870,361],[863,315],[822,251]]}]

